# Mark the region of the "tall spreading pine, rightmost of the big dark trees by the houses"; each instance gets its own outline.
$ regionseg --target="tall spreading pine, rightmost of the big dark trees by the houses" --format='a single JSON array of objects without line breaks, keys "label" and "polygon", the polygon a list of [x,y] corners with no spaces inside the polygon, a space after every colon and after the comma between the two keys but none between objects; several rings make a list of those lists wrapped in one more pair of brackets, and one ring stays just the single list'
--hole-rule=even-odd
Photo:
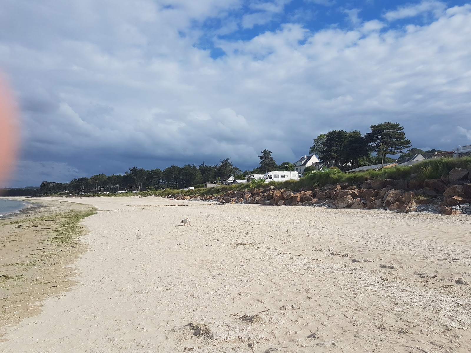
[{"label": "tall spreading pine, rightmost of the big dark trees by the houses", "polygon": [[365,135],[370,151],[375,151],[381,157],[382,163],[387,154],[399,154],[409,148],[411,141],[406,139],[404,128],[398,123],[383,122],[370,126],[371,132]]}]

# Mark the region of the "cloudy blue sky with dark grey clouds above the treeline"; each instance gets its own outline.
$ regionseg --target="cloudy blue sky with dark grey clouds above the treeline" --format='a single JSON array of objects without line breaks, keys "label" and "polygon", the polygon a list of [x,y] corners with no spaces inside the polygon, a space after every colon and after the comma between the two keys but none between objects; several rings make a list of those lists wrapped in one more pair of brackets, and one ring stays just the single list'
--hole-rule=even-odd
[{"label": "cloudy blue sky with dark grey clouds above the treeline", "polygon": [[0,0],[21,112],[12,187],[172,164],[258,166],[333,129],[471,144],[471,3]]}]

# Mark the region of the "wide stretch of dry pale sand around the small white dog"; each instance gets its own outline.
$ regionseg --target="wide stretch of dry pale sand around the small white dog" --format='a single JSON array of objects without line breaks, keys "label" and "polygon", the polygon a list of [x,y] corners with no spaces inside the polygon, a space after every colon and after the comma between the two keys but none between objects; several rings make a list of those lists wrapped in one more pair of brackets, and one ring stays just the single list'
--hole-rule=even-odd
[{"label": "wide stretch of dry pale sand around the small white dog", "polygon": [[98,210],[76,285],[1,352],[470,352],[469,216],[63,200]]}]

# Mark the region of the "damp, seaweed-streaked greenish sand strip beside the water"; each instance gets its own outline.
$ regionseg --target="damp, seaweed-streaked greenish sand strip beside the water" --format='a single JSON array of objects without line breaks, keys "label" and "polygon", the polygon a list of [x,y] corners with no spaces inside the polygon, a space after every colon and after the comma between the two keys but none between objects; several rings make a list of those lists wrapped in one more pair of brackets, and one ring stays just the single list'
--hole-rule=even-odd
[{"label": "damp, seaweed-streaked greenish sand strip beside the water", "polygon": [[57,201],[28,201],[34,206],[0,217],[0,342],[7,327],[37,315],[47,297],[73,285],[69,266],[86,247],[79,240],[85,229],[70,217],[90,208]]}]

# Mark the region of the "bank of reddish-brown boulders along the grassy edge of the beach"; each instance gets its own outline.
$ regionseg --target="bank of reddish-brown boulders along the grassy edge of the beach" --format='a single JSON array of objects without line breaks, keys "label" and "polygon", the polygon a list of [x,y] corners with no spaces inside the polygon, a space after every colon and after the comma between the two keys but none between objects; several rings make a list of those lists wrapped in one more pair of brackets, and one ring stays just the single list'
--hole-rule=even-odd
[{"label": "bank of reddish-brown boulders along the grassy edge of the beach", "polygon": [[[413,175],[414,176],[414,175]],[[179,200],[198,198],[224,204],[252,203],[272,206],[316,206],[337,209],[389,209],[398,213],[433,212],[445,215],[471,214],[471,173],[454,168],[438,179],[408,182],[393,179],[367,180],[361,185],[338,183],[298,191],[268,188],[231,190],[199,197],[179,195]]]}]

